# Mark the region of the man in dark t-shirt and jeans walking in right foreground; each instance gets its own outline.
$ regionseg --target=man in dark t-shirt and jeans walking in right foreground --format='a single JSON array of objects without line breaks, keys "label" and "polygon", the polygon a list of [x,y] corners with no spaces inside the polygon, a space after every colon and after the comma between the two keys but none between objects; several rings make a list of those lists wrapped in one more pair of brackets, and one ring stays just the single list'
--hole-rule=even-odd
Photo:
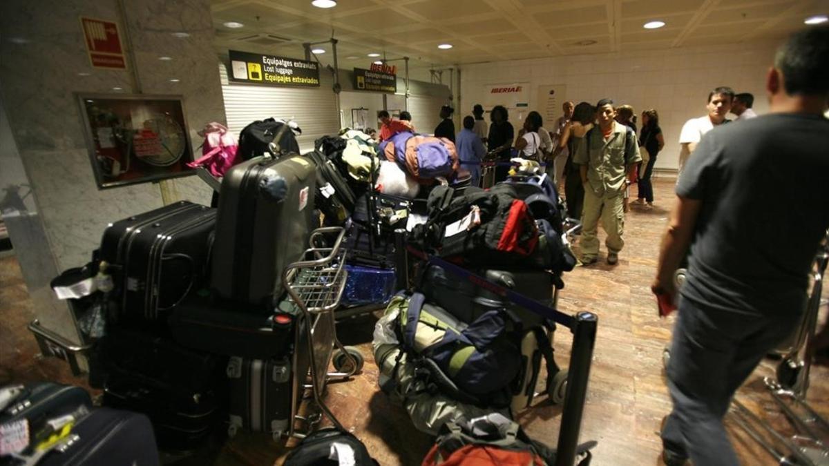
[{"label": "man in dark t-shirt and jeans walking in right foreground", "polygon": [[722,418],[793,333],[829,228],[829,27],[793,35],[768,71],[770,113],[711,130],[676,186],[652,289],[673,299],[690,245],[667,367],[668,465],[737,465]]}]

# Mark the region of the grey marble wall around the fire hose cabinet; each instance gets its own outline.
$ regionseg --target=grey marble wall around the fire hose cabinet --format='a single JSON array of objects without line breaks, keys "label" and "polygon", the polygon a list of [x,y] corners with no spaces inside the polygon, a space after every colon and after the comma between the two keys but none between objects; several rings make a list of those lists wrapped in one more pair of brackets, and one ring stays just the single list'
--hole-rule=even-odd
[{"label": "grey marble wall around the fire hose cabinet", "polygon": [[[133,51],[130,70],[90,66],[81,16],[119,23],[124,47]],[[52,253],[59,269],[82,265],[109,221],[162,206],[162,195],[149,183],[98,189],[75,93],[182,95],[191,147],[197,148],[198,129],[225,122],[210,2],[5,0],[0,30],[0,92]],[[175,34],[182,32],[186,36]],[[167,186],[172,201],[210,200],[196,177]]]}]

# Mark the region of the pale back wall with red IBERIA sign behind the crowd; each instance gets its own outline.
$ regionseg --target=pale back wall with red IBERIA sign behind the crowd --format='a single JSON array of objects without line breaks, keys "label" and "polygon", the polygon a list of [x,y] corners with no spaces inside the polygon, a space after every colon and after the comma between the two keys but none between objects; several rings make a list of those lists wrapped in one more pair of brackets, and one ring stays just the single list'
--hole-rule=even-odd
[{"label": "pale back wall with red IBERIA sign behind the crowd", "polygon": [[462,66],[463,107],[483,101],[485,85],[525,82],[531,86],[530,109],[538,105],[540,85],[566,85],[563,99],[576,103],[595,104],[609,97],[617,104],[633,105],[637,114],[657,109],[666,143],[657,168],[676,169],[682,124],[705,114],[705,98],[714,87],[729,85],[736,92],[750,92],[754,110],[758,114],[768,110],[764,79],[776,46],[768,42],[622,51]]}]

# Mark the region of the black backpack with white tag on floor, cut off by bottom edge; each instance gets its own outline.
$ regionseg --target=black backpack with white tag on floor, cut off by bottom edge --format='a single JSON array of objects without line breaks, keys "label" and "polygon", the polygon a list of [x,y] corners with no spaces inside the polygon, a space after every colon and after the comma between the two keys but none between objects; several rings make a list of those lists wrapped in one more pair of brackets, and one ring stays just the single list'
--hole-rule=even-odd
[{"label": "black backpack with white tag on floor, cut off by bottom edge", "polygon": [[285,458],[284,466],[338,466],[338,460],[329,458],[331,445],[334,443],[351,447],[356,466],[379,464],[371,458],[366,445],[360,439],[348,432],[329,427],[320,429],[299,442],[297,448]]}]

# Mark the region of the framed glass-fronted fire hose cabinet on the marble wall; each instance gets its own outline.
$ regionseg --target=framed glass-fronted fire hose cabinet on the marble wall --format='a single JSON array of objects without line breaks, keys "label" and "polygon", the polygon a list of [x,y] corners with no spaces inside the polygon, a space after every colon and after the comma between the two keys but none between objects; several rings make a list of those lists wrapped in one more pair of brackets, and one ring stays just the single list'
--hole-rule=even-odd
[{"label": "framed glass-fronted fire hose cabinet on the marble wall", "polygon": [[195,171],[181,96],[78,95],[99,189]]}]

